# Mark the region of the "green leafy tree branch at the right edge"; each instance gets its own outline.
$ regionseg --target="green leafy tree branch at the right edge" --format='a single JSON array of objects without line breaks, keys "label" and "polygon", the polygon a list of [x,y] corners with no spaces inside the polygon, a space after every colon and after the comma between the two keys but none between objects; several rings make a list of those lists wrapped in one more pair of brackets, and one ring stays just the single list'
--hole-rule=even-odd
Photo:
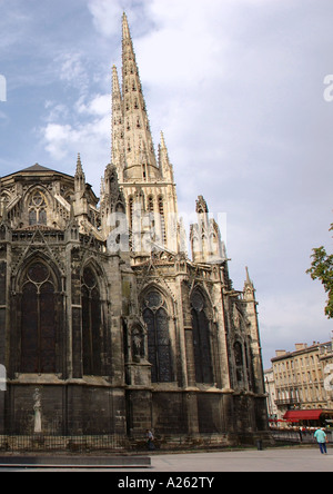
[{"label": "green leafy tree branch at the right edge", "polygon": [[[333,224],[330,231],[333,230]],[[329,319],[333,318],[333,255],[327,255],[324,247],[313,249],[311,268],[306,270],[312,279],[320,279],[329,294],[325,314]]]}]

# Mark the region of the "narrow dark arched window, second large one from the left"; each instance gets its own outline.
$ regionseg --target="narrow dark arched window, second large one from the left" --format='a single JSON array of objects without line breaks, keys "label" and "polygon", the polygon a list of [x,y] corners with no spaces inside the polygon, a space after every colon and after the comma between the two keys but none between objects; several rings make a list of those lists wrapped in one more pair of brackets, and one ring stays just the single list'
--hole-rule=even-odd
[{"label": "narrow dark arched window, second large one from the left", "polygon": [[101,303],[97,278],[91,268],[82,277],[83,374],[101,375]]}]

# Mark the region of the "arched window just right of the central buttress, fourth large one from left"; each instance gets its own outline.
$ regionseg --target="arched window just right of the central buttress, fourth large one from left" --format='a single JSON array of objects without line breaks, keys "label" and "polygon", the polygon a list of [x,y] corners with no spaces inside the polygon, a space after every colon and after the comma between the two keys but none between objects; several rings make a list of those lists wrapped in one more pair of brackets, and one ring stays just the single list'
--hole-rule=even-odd
[{"label": "arched window just right of the central buttress, fourth large one from left", "polygon": [[205,314],[205,299],[199,290],[191,297],[193,348],[196,383],[213,383],[210,323]]}]

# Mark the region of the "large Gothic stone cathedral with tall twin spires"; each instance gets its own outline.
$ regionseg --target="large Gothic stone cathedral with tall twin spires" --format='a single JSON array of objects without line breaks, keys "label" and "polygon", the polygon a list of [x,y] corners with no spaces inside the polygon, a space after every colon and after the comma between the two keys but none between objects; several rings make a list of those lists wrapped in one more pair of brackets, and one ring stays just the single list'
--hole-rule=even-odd
[{"label": "large Gothic stone cathedral with tall twin spires", "polygon": [[[205,199],[190,243],[158,152],[127,16],[100,197],[38,164],[0,180],[0,434],[161,447],[268,437],[255,289],[235,290]],[[189,254],[188,250],[191,250]]]}]

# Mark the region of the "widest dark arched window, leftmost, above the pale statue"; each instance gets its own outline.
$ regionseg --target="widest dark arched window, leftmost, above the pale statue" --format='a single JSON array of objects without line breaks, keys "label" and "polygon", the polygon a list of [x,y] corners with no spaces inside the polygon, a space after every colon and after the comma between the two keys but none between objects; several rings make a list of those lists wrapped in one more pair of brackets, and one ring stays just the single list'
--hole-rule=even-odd
[{"label": "widest dark arched window, leftmost, above the pale statue", "polygon": [[56,288],[43,263],[32,264],[26,273],[21,312],[21,372],[56,373]]}]

